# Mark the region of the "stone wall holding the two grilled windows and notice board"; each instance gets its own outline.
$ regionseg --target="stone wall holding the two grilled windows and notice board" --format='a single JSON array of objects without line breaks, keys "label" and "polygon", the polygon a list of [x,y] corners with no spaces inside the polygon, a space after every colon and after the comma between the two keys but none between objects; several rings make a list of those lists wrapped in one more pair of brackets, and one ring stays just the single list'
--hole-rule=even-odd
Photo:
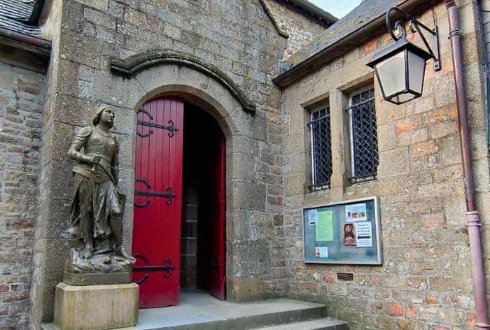
[{"label": "stone wall holding the two grilled windows and notice board", "polygon": [[[482,45],[475,1],[458,1],[472,155],[484,251],[490,244]],[[289,296],[323,301],[349,329],[468,329],[475,326],[465,196],[447,13],[435,6],[442,70],[428,62],[423,96],[395,106],[382,99],[372,69],[387,33],[353,48],[283,92],[286,272]],[[430,11],[421,16],[432,24]],[[348,95],[374,84],[379,166],[377,180],[351,184]],[[330,106],[331,189],[309,192],[309,109]],[[302,208],[379,196],[382,266],[304,264]],[[488,253],[485,253],[488,255]],[[485,259],[486,260],[486,259]],[[489,264],[486,262],[486,268]],[[353,281],[337,273],[353,273]],[[487,288],[487,292],[488,288]]]}]

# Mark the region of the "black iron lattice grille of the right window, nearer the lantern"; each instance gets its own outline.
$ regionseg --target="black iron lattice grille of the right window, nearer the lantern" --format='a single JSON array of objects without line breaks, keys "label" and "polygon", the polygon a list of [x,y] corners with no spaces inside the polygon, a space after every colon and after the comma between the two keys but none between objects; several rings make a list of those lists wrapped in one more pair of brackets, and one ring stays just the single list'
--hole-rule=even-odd
[{"label": "black iron lattice grille of the right window, nearer the lantern", "polygon": [[367,89],[351,97],[351,182],[376,178],[379,165],[374,89]]}]

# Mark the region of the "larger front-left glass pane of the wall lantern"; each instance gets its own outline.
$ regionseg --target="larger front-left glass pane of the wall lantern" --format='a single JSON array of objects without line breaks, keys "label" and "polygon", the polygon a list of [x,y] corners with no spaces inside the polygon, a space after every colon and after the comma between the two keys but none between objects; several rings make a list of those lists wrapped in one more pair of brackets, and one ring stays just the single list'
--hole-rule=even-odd
[{"label": "larger front-left glass pane of the wall lantern", "polygon": [[376,64],[376,71],[385,99],[407,89],[405,82],[405,51]]}]

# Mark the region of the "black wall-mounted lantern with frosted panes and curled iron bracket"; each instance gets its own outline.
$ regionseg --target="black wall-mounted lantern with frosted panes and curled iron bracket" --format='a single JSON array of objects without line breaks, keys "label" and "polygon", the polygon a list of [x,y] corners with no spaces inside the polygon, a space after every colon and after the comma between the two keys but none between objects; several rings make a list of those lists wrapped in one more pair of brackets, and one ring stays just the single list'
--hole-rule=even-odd
[{"label": "black wall-mounted lantern with frosted panes and curled iron bracket", "polygon": [[[405,31],[401,20],[395,22],[394,27],[397,33],[393,32],[390,20],[393,10],[398,11],[398,13],[408,19],[410,31],[421,36],[427,50],[423,50],[407,41],[407,31]],[[381,92],[383,92],[383,98],[391,103],[401,104],[422,95],[423,76],[428,59],[434,59],[435,71],[440,70],[437,25],[435,24],[435,17],[434,29],[430,29],[405,11],[397,7],[391,7],[386,12],[386,26],[395,43],[377,52],[371,61],[367,63],[367,66],[374,69],[379,86],[381,86]],[[420,28],[430,33],[432,46],[429,45]]]}]

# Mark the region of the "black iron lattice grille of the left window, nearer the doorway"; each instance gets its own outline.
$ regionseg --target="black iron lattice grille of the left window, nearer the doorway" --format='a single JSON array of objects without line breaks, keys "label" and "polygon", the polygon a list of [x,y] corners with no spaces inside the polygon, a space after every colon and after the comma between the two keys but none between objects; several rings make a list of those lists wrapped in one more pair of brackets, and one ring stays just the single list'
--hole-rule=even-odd
[{"label": "black iron lattice grille of the left window, nearer the doorway", "polygon": [[323,108],[311,114],[308,127],[311,131],[311,190],[330,188],[332,176],[332,145],[330,134],[330,108]]}]

